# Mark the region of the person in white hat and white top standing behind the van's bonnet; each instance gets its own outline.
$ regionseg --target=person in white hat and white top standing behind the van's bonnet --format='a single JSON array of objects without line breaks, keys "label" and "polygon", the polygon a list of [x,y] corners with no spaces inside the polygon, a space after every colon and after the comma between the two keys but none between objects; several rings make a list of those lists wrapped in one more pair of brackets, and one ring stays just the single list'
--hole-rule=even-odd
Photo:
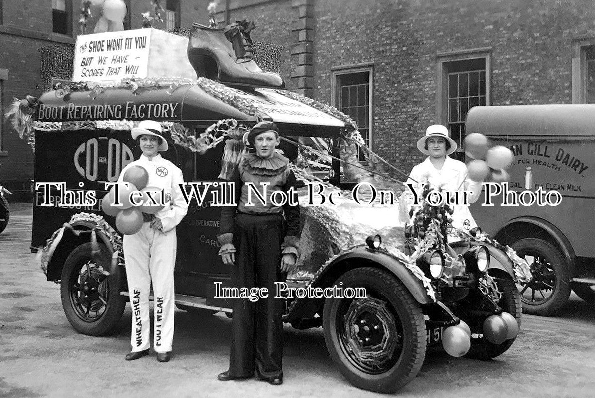
[{"label": "person in white hat and white top standing behind the van's bonnet", "polygon": [[[417,188],[421,188],[423,183],[430,181],[432,188],[440,186],[444,191],[453,193],[469,191],[468,203],[475,203],[481,194],[481,182],[472,181],[468,177],[465,163],[449,156],[456,151],[456,148],[456,142],[449,137],[446,127],[442,125],[428,127],[425,136],[418,139],[417,149],[429,156],[411,169],[407,182],[413,183],[415,180],[419,184]],[[462,194],[459,194],[459,198],[462,201]],[[453,206],[452,219],[452,225],[455,228],[469,231],[477,226],[469,206],[464,204]]]}]

